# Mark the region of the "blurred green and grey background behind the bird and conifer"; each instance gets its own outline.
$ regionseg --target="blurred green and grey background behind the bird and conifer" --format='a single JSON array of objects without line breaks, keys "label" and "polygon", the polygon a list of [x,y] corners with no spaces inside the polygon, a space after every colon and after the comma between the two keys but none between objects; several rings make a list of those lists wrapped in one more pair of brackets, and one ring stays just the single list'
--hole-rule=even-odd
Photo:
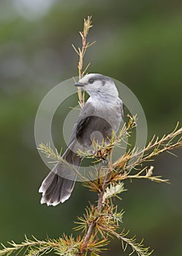
[{"label": "blurred green and grey background behind the bird and conifer", "polygon": [[[140,100],[148,121],[148,140],[182,124],[181,1],[0,1],[0,241],[22,241],[72,233],[73,221],[95,195],[76,184],[72,197],[53,208],[40,205],[39,185],[48,173],[34,142],[34,118],[45,94],[77,75],[83,18],[94,28],[86,62],[125,83]],[[72,100],[69,105],[72,106]],[[64,109],[55,119],[61,148]],[[58,132],[59,131],[59,132]],[[154,255],[182,255],[182,151],[156,158],[156,174],[171,184],[126,182],[117,201],[124,227],[145,238]],[[107,255],[128,255],[118,241]]]}]

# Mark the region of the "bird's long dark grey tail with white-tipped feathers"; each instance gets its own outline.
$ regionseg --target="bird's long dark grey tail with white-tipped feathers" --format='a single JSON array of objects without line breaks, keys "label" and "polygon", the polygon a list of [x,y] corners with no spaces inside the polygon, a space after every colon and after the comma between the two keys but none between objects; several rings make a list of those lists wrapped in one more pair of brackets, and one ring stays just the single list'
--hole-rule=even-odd
[{"label": "bird's long dark grey tail with white-tipped feathers", "polygon": [[64,159],[67,163],[58,162],[45,180],[42,181],[42,185],[39,188],[39,192],[42,193],[40,203],[47,203],[48,206],[57,206],[58,203],[64,203],[70,197],[77,176],[74,170],[71,169],[70,164],[74,162],[77,168],[80,165],[80,157],[72,151],[67,151]]}]

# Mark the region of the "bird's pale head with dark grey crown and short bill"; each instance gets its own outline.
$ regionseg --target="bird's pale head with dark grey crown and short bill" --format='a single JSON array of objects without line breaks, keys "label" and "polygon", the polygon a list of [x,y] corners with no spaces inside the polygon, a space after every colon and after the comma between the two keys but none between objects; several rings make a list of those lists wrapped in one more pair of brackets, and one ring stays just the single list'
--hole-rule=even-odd
[{"label": "bird's pale head with dark grey crown and short bill", "polygon": [[101,74],[88,74],[81,78],[75,86],[80,86],[86,90],[90,96],[95,94],[110,94],[110,96],[118,97],[118,90],[116,89],[113,80]]}]

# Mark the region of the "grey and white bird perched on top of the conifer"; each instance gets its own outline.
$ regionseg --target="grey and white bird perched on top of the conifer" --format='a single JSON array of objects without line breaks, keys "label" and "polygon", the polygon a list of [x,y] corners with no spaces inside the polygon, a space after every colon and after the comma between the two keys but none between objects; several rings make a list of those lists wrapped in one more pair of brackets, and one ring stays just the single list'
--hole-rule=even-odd
[{"label": "grey and white bird perched on top of the conifer", "polygon": [[72,167],[79,168],[82,160],[77,151],[91,148],[93,140],[107,142],[123,121],[123,102],[110,77],[90,73],[83,76],[75,86],[85,90],[89,98],[72,129],[67,149],[62,155],[63,161],[50,170],[39,188],[42,193],[40,203],[47,203],[48,206],[64,203],[72,194],[77,177]]}]

